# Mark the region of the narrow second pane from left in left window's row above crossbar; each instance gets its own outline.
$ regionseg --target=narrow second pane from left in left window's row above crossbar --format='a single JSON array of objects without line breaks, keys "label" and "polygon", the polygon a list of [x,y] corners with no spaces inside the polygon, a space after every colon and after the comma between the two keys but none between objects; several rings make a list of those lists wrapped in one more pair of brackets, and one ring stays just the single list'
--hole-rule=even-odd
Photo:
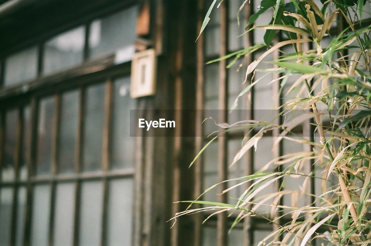
[{"label": "narrow second pane from left in left window's row above crossbar", "polygon": [[22,151],[19,164],[19,178],[26,180],[27,178],[27,165],[30,163],[30,138],[31,138],[31,110],[30,106],[23,109],[23,139]]}]

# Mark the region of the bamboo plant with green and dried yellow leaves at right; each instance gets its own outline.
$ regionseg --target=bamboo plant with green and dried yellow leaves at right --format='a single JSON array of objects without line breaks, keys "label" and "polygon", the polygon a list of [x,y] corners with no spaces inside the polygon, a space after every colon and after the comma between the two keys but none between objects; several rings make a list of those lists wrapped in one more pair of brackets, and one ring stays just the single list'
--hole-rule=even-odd
[{"label": "bamboo plant with green and dried yellow leaves at right", "polygon": [[[226,1],[226,0],[225,0]],[[214,0],[202,25],[201,32],[206,28],[210,12],[217,0]],[[245,1],[243,9],[249,2]],[[287,93],[295,91],[294,97],[279,108],[275,117],[295,115],[282,124],[275,120],[242,121],[224,127],[225,132],[236,127],[247,129],[242,148],[236,153],[232,165],[239,161],[251,148],[259,148],[259,140],[268,132],[279,129],[275,145],[283,139],[296,144],[310,146],[306,151],[290,153],[272,159],[264,168],[255,174],[240,177],[239,183],[229,187],[227,192],[238,186],[249,184],[236,203],[221,204],[202,201],[200,198],[218,184],[205,190],[190,203],[187,210],[175,215],[173,219],[187,214],[203,211],[219,213],[236,213],[239,211],[232,228],[242,219],[249,216],[260,216],[268,223],[275,224],[275,230],[268,234],[260,245],[311,245],[313,239],[322,238],[328,245],[370,245],[371,244],[371,70],[370,70],[370,22],[362,21],[364,6],[367,0],[262,0],[256,13],[249,17],[246,33],[253,29],[265,30],[264,44],[247,47],[216,59],[236,57],[234,61],[257,49],[265,52],[251,64],[246,64],[246,87],[232,105],[233,110],[240,97],[251,93],[252,87],[259,83],[255,72],[261,62],[272,63],[267,74],[276,74],[281,92],[290,76],[296,81],[290,85]],[[260,14],[273,9],[270,25],[254,25]],[[342,25],[341,33],[332,31]],[[284,40],[275,42],[275,35],[281,32]],[[246,35],[243,33],[242,35]],[[330,42],[324,45],[322,39]],[[282,48],[292,46],[290,54],[282,52]],[[275,61],[265,61],[265,57],[279,51]],[[211,61],[214,62],[214,61]],[[275,81],[272,81],[272,83]],[[288,94],[282,94],[285,97]],[[302,113],[297,113],[302,112]],[[286,119],[286,117],[284,117]],[[288,124],[288,122],[290,124]],[[308,123],[309,122],[309,123]],[[299,124],[311,124],[312,136],[295,136],[292,132]],[[225,124],[224,124],[225,126]],[[257,132],[256,134],[253,133]],[[217,139],[214,137],[210,142]],[[207,144],[196,156],[195,160],[207,148]],[[193,164],[193,162],[192,162]],[[192,165],[191,164],[191,165]],[[309,173],[305,173],[305,165],[309,165]],[[273,167],[273,168],[271,168]],[[275,170],[268,172],[267,170]],[[320,171],[320,172],[318,172]],[[320,173],[320,175],[318,175]],[[282,196],[290,193],[285,190],[285,179],[304,178],[298,191],[291,191],[296,199],[311,197],[311,202],[304,206],[288,206],[281,203]],[[310,179],[320,181],[321,192],[308,189]],[[224,182],[228,182],[227,180]],[[260,195],[269,185],[280,180],[278,192]],[[274,198],[273,202],[272,199]],[[206,207],[193,208],[194,203],[207,204]],[[295,203],[293,203],[295,204]],[[297,203],[296,203],[297,204]],[[259,206],[270,207],[269,214],[258,213]],[[289,218],[282,223],[281,218]],[[326,245],[326,244],[325,244]]]}]

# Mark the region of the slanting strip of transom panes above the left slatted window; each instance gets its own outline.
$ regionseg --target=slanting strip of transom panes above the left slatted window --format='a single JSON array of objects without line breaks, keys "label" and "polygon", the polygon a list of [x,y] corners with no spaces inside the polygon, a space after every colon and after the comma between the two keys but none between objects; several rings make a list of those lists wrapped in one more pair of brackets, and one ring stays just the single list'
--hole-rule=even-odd
[{"label": "slanting strip of transom panes above the left slatted window", "polygon": [[114,54],[116,64],[131,61],[137,15],[138,6],[134,5],[49,37],[40,49],[35,46],[7,56],[4,87],[35,80],[39,73],[51,75],[75,68],[87,58],[90,61]]}]

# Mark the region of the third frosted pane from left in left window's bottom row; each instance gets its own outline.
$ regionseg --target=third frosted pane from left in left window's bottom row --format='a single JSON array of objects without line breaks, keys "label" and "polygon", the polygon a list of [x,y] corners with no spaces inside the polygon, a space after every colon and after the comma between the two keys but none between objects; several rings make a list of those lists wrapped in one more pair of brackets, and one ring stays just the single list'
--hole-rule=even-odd
[{"label": "third frosted pane from left in left window's bottom row", "polygon": [[49,213],[50,186],[36,185],[33,189],[31,245],[48,245]]}]

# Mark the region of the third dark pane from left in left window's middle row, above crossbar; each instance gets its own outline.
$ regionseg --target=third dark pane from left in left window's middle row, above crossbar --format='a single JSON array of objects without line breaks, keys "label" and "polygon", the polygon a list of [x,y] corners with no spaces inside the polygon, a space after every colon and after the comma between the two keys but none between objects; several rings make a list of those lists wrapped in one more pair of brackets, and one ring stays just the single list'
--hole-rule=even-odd
[{"label": "third dark pane from left in left window's middle row, above crossbar", "polygon": [[36,174],[49,174],[52,162],[52,133],[54,125],[54,97],[40,101],[37,127],[37,166]]}]

